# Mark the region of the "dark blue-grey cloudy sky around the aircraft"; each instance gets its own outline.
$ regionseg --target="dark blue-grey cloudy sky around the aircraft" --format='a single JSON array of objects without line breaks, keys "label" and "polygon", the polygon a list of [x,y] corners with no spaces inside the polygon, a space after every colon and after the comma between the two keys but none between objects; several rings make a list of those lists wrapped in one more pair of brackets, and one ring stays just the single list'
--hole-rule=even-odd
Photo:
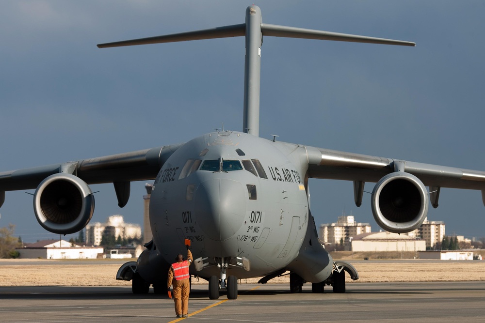
[{"label": "dark blue-grey cloudy sky around the aircraft", "polygon": [[[242,131],[244,38],[99,49],[96,44],[244,22],[243,1],[0,1],[0,171]],[[261,0],[263,22],[417,43],[384,46],[264,37],[259,136],[485,170],[485,2]],[[143,222],[145,182],[119,209],[93,185],[92,222]],[[373,184],[366,185],[372,191]],[[33,193],[31,191],[30,193]],[[374,222],[352,182],[310,180],[317,226]],[[485,236],[480,191],[442,189],[428,219]],[[7,192],[0,227],[40,227],[32,196]],[[74,235],[77,236],[77,235]],[[67,237],[68,238],[68,237]]]}]

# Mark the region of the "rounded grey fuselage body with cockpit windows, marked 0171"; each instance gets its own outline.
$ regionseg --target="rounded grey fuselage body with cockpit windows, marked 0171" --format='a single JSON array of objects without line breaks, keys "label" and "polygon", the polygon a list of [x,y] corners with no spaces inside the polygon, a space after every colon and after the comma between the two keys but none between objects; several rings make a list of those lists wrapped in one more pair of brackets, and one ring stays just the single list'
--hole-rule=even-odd
[{"label": "rounded grey fuselage body with cockpit windows, marked 0171", "polygon": [[[264,276],[288,266],[308,225],[307,161],[291,154],[297,149],[235,131],[180,147],[163,165],[150,199],[153,240],[164,260],[171,263],[190,239],[195,257],[250,261],[250,271],[229,265],[227,275]],[[201,277],[220,273],[215,265],[191,269]]]}]

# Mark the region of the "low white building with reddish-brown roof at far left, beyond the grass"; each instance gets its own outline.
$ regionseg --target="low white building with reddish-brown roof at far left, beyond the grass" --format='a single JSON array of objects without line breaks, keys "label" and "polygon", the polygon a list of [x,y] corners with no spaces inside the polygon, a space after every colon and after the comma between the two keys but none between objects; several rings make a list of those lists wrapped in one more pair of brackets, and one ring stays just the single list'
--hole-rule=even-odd
[{"label": "low white building with reddish-brown roof at far left, beyond the grass", "polygon": [[42,240],[16,251],[23,259],[96,259],[104,250],[102,247],[79,246],[65,240]]}]

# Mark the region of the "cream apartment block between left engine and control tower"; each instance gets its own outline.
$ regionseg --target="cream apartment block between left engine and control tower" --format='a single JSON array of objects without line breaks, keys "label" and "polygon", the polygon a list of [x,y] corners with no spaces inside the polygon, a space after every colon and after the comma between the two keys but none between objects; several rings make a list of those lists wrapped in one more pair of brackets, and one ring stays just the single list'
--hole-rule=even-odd
[{"label": "cream apartment block between left engine and control tower", "polygon": [[123,215],[111,215],[106,223],[95,222],[86,226],[86,244],[99,246],[105,233],[114,235],[115,239],[138,239],[142,236],[142,228],[138,224],[125,223]]}]

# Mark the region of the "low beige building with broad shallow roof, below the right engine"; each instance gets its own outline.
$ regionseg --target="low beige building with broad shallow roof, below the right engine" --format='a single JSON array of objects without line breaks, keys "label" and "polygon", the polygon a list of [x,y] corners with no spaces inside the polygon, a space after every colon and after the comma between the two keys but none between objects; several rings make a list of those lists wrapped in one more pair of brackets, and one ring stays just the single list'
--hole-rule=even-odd
[{"label": "low beige building with broad shallow roof, below the right engine", "polygon": [[351,241],[352,251],[420,251],[426,250],[424,239],[388,231],[356,235]]}]

